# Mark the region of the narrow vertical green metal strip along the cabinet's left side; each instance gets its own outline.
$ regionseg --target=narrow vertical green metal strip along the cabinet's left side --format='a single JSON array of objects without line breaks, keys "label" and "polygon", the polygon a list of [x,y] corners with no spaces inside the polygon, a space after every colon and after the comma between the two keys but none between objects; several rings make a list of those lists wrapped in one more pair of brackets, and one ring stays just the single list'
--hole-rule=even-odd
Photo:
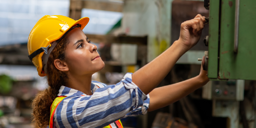
[{"label": "narrow vertical green metal strip along the cabinet's left side", "polygon": [[219,10],[220,0],[210,0],[209,17],[209,63],[208,77],[218,77],[218,44],[219,44]]}]

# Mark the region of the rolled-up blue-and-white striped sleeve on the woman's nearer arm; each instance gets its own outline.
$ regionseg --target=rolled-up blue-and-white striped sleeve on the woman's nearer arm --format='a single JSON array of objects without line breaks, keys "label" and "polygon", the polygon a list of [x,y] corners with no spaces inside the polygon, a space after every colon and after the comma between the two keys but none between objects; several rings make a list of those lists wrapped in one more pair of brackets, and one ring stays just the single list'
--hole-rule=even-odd
[{"label": "rolled-up blue-and-white striped sleeve on the woman's nearer arm", "polygon": [[104,127],[127,116],[146,114],[149,95],[132,82],[132,73],[127,73],[119,83],[98,88],[91,96],[79,96],[74,101],[79,127]]}]

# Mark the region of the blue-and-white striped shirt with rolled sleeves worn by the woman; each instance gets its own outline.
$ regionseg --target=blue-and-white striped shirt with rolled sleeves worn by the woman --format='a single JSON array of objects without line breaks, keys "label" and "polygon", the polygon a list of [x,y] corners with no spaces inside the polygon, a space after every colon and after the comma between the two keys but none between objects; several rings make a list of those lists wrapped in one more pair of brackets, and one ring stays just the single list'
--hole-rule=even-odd
[{"label": "blue-and-white striped shirt with rolled sleeves worn by the woman", "polygon": [[56,108],[54,127],[102,128],[118,119],[147,113],[149,95],[132,82],[132,73],[115,85],[92,81],[91,91],[92,95],[86,95],[61,86],[58,96],[67,97]]}]

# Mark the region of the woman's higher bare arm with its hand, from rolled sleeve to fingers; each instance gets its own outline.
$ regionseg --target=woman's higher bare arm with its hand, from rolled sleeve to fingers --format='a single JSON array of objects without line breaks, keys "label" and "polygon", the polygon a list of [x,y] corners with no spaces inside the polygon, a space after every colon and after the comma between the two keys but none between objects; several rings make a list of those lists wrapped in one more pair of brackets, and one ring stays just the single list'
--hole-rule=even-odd
[{"label": "woman's higher bare arm with its hand, from rolled sleeve to fingers", "polygon": [[177,60],[196,45],[202,34],[205,19],[198,14],[194,19],[181,24],[180,38],[161,55],[133,73],[132,81],[142,92],[148,94],[170,72]]}]

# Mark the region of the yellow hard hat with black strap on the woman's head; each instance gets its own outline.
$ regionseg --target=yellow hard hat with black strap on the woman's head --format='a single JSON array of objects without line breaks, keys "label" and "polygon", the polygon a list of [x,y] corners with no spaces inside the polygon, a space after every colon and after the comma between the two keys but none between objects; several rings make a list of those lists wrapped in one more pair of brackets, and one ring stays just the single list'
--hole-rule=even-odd
[{"label": "yellow hard hat with black strap on the woman's head", "polygon": [[28,58],[36,66],[39,76],[46,76],[42,72],[42,56],[44,53],[50,54],[47,53],[47,49],[52,46],[50,43],[59,41],[65,33],[75,27],[83,30],[88,22],[88,17],[73,20],[60,15],[45,15],[37,21],[28,37]]}]

